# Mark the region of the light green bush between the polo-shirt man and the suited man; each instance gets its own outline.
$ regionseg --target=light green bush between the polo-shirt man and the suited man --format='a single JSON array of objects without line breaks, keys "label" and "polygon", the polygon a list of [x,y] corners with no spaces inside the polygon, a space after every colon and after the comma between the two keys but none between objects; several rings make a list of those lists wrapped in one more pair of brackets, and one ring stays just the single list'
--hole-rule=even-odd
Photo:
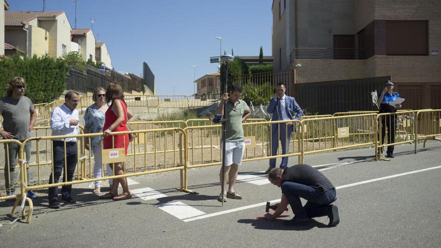
[{"label": "light green bush between the polo-shirt man and the suited man", "polygon": [[266,82],[257,87],[251,85],[244,85],[242,92],[242,100],[248,105],[253,102],[253,105],[267,104],[270,98],[273,97],[273,87],[270,82]]}]

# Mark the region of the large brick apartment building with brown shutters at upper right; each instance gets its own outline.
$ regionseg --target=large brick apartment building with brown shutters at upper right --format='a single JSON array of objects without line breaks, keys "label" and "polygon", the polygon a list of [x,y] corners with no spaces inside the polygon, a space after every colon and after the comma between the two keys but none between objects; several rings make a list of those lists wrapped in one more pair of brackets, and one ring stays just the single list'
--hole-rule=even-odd
[{"label": "large brick apartment building with brown shutters at upper right", "polygon": [[439,10],[439,0],[274,0],[274,70],[295,69],[297,84],[391,76],[415,108],[439,108]]}]

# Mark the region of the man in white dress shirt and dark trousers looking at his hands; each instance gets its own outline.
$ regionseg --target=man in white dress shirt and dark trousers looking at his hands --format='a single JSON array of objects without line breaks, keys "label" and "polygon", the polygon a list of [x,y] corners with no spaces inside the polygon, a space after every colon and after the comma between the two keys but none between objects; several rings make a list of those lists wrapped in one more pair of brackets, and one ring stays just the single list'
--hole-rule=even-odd
[{"label": "man in white dress shirt and dark trousers looking at his hands", "polygon": [[[51,114],[52,136],[59,135],[77,135],[79,133],[79,113],[76,110],[80,97],[78,93],[69,91],[66,93],[65,103],[60,107],[56,107]],[[65,160],[65,143],[66,143],[66,160]],[[76,138],[60,138],[54,139],[53,143],[54,171],[51,173],[49,183],[58,183],[61,172],[66,164],[66,170],[63,174],[63,182],[72,181],[75,167],[77,166],[77,139]],[[76,203],[71,196],[72,185],[66,185],[61,188],[62,200],[66,203]],[[49,207],[59,208],[58,187],[49,188]]]}]

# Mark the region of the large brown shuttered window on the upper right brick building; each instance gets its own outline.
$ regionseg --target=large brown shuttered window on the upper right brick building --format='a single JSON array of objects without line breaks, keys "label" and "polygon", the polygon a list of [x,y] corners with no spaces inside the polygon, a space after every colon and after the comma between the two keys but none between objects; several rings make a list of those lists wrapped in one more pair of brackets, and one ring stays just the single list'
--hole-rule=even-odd
[{"label": "large brown shuttered window on the upper right brick building", "polygon": [[386,21],[386,55],[428,55],[427,21]]}]

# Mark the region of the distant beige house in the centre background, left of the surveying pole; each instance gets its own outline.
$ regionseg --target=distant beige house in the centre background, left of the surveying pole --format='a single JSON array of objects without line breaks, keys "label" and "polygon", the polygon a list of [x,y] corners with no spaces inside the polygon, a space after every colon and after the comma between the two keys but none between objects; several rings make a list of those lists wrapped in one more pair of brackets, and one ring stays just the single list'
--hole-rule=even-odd
[{"label": "distant beige house in the centre background, left of the surveying pole", "polygon": [[220,73],[206,74],[196,79],[196,98],[218,99],[220,94]]}]

